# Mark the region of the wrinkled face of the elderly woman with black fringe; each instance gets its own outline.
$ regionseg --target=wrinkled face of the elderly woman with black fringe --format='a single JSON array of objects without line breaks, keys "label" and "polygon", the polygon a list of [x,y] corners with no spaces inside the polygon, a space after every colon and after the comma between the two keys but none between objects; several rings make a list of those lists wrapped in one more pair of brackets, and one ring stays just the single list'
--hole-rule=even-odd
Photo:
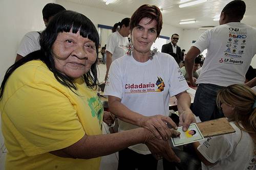
[{"label": "wrinkled face of the elderly woman with black fringe", "polygon": [[57,70],[73,79],[86,74],[97,58],[95,43],[80,36],[79,30],[59,33],[52,53]]}]

